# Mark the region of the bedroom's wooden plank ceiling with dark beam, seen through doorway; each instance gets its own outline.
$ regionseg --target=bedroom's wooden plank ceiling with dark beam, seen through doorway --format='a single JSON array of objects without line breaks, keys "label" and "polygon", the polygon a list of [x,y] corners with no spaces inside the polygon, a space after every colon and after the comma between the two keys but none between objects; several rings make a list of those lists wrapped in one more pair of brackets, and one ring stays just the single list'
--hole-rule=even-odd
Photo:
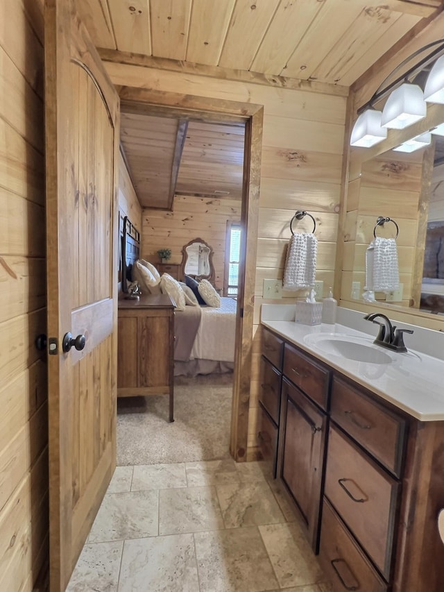
[{"label": "bedroom's wooden plank ceiling with dark beam, seen through doorway", "polygon": [[121,114],[121,147],[142,208],[174,194],[241,199],[244,124]]}]

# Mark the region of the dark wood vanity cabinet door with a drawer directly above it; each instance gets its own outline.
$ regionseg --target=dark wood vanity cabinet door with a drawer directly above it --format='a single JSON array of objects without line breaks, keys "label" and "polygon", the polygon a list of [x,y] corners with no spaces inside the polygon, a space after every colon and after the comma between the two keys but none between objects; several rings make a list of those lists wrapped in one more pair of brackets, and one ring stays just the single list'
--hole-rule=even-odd
[{"label": "dark wood vanity cabinet door with a drawer directly above it", "polygon": [[327,418],[287,380],[282,381],[282,396],[287,405],[282,479],[300,509],[316,552]]}]

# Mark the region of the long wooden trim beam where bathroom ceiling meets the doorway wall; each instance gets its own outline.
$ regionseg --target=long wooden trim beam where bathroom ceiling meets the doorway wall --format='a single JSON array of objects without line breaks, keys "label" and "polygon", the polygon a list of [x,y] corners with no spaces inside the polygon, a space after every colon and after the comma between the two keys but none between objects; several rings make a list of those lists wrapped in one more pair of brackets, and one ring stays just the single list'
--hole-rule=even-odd
[{"label": "long wooden trim beam where bathroom ceiling meets the doorway wall", "polygon": [[155,58],[154,56],[142,56],[141,54],[105,48],[99,48],[98,51],[104,62],[113,62],[121,65],[139,66],[157,70],[169,70],[173,72],[181,72],[182,74],[196,74],[197,76],[209,76],[210,78],[259,84],[275,88],[321,92],[323,94],[333,94],[335,96],[348,96],[348,87],[341,85],[316,81],[303,81],[298,78],[259,74],[257,72],[230,69],[221,66],[208,66],[191,62],[169,60],[167,58]]}]

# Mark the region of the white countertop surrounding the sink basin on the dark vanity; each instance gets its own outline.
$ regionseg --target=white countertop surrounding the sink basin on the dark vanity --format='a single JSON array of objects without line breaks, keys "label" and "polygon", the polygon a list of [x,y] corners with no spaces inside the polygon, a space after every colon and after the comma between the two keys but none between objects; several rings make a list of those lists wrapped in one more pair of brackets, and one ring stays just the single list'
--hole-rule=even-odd
[{"label": "white countertop surrounding the sink basin on the dark vanity", "polygon": [[[359,315],[364,316],[363,314]],[[399,409],[420,421],[444,420],[444,360],[427,355],[427,353],[411,350],[408,338],[413,336],[405,336],[405,343],[409,351],[398,353],[373,345],[377,327],[368,321],[365,323],[369,325],[369,330],[373,332],[372,335],[339,323],[309,326],[300,325],[291,320],[270,319],[270,316],[280,315],[265,312],[262,314],[263,325],[393,403]],[[289,314],[281,316],[291,318]],[[341,320],[345,318],[343,314],[339,316],[341,316]],[[356,362],[341,355],[327,353],[316,345],[311,346],[305,341],[308,335],[318,333],[325,333],[326,336],[331,334],[332,337],[334,334],[360,337],[365,340],[366,345],[389,355],[392,362],[388,364]]]}]

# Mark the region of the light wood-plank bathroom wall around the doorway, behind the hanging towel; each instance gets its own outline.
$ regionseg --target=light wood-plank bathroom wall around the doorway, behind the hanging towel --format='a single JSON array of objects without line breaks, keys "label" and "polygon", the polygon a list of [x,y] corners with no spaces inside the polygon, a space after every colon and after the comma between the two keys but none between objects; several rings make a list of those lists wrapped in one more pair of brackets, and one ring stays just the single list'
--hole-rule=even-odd
[{"label": "light wood-plank bathroom wall around the doorway, behind the hanging towel", "polygon": [[[216,100],[251,101],[264,105],[255,328],[248,427],[247,456],[251,458],[255,455],[257,444],[260,339],[257,325],[263,301],[262,280],[282,278],[290,237],[290,220],[296,210],[308,210],[316,218],[316,235],[320,241],[316,276],[324,280],[326,285],[333,285],[346,110],[345,93],[343,89],[327,85],[323,87],[323,92],[311,92],[306,87],[304,90],[276,88],[137,65],[105,62],[105,67],[117,85],[193,94]],[[311,231],[311,221],[305,219],[297,223],[296,228],[298,231]],[[291,294],[291,298],[277,302],[293,301],[294,294]]]}]

